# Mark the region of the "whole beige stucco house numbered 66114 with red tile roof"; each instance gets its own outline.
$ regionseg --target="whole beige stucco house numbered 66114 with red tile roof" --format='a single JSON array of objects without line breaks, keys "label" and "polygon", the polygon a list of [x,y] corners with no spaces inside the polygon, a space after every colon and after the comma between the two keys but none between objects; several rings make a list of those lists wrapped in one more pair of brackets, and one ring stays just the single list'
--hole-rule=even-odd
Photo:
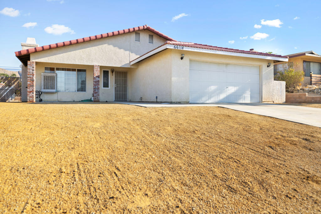
[{"label": "whole beige stucco house numbered 66114 with red tile roof", "polygon": [[28,102],[35,90],[44,101],[285,101],[273,61],[287,56],[178,42],[147,25],[42,47],[29,38],[22,49]]}]

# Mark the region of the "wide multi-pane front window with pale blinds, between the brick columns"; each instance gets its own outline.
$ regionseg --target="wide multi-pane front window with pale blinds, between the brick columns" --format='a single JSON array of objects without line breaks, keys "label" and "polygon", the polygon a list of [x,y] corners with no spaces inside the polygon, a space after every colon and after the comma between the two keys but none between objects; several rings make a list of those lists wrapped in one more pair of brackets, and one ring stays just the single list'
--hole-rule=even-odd
[{"label": "wide multi-pane front window with pale blinds, between the brick columns", "polygon": [[86,69],[45,67],[45,73],[57,74],[57,91],[86,91]]}]

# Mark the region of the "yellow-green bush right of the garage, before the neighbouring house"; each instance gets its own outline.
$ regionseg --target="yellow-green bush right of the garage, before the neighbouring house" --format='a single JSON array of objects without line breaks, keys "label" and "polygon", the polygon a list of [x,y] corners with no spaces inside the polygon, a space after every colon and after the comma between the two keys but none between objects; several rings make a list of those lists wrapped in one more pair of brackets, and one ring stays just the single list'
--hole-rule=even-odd
[{"label": "yellow-green bush right of the garage, before the neighbouring house", "polygon": [[276,79],[279,81],[285,81],[285,89],[292,92],[293,89],[301,85],[301,81],[304,80],[304,72],[297,71],[294,68],[289,68],[284,72],[278,71]]}]

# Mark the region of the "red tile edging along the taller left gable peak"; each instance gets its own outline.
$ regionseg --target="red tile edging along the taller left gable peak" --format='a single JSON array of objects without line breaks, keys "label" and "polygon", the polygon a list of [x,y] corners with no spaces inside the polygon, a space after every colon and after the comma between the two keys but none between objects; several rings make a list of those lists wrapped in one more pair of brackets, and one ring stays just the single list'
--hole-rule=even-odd
[{"label": "red tile edging along the taller left gable peak", "polygon": [[81,39],[74,39],[74,40],[70,40],[70,41],[65,41],[65,42],[58,42],[56,44],[51,44],[51,45],[44,45],[41,47],[32,47],[26,50],[21,50],[21,51],[16,51],[14,52],[16,54],[16,56],[22,56],[22,55],[26,55],[26,54],[31,54],[34,52],[39,52],[39,51],[43,51],[43,50],[49,50],[52,48],[56,48],[56,47],[63,47],[63,46],[67,46],[67,45],[73,45],[73,44],[77,44],[77,43],[82,43],[82,42],[86,42],[86,41],[91,41],[91,40],[95,40],[95,39],[101,39],[101,38],[106,38],[106,37],[110,37],[110,36],[116,36],[116,35],[120,35],[120,34],[124,34],[124,33],[129,33],[129,32],[134,32],[137,30],[149,30],[152,33],[162,37],[163,39],[166,40],[171,40],[171,41],[176,41],[172,38],[170,38],[169,36],[166,36],[165,34],[161,33],[158,30],[155,30],[147,25],[143,25],[143,26],[139,26],[139,27],[135,27],[135,28],[128,28],[125,30],[118,30],[118,31],[114,31],[114,32],[109,32],[109,33],[103,33],[103,34],[99,34],[96,36],[91,36],[91,37],[85,37],[85,38],[81,38]]}]

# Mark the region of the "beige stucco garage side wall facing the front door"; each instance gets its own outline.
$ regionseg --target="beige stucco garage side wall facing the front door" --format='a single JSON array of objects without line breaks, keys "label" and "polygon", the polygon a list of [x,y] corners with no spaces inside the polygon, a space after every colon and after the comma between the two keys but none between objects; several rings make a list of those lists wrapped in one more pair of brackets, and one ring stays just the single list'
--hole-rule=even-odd
[{"label": "beige stucco garage side wall facing the front door", "polygon": [[137,64],[130,72],[130,100],[172,101],[171,50],[164,50]]}]

